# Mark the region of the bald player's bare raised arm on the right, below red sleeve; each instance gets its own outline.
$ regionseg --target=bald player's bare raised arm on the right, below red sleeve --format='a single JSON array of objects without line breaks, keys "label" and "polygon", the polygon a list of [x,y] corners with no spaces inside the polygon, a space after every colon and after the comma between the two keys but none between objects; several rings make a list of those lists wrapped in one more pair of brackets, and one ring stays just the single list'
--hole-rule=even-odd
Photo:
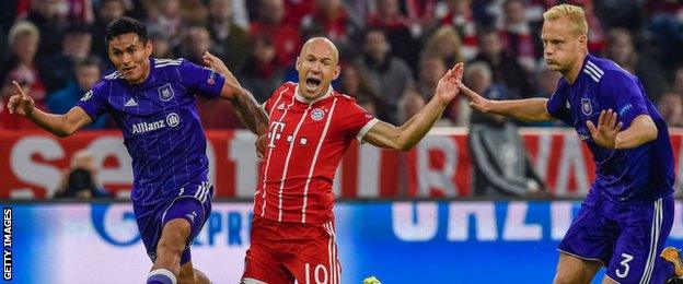
[{"label": "bald player's bare raised arm on the right, below red sleeve", "polygon": [[458,84],[462,74],[463,63],[455,64],[439,80],[435,96],[417,115],[400,127],[380,121],[368,131],[363,140],[379,147],[401,151],[413,149],[427,134],[449,103],[460,92]]}]

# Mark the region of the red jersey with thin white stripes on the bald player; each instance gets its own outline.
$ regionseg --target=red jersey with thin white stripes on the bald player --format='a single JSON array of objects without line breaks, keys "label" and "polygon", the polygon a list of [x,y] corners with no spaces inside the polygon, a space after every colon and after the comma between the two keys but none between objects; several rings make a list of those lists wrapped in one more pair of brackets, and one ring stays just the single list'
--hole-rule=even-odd
[{"label": "red jersey with thin white stripes on the bald player", "polygon": [[297,95],[297,87],[285,83],[264,104],[269,141],[254,214],[320,224],[334,220],[332,182],[344,152],[379,120],[332,86],[312,103]]}]

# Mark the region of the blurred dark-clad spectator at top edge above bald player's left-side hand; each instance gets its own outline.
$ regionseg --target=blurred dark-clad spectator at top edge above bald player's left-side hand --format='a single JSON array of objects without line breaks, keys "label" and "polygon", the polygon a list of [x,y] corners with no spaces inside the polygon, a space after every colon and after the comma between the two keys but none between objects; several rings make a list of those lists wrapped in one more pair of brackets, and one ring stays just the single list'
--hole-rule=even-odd
[{"label": "blurred dark-clad spectator at top edge above bald player's left-side hand", "polygon": [[224,55],[222,59],[225,66],[230,70],[239,70],[248,56],[250,37],[247,32],[233,21],[233,1],[235,0],[210,0],[207,27],[215,43],[213,49]]}]

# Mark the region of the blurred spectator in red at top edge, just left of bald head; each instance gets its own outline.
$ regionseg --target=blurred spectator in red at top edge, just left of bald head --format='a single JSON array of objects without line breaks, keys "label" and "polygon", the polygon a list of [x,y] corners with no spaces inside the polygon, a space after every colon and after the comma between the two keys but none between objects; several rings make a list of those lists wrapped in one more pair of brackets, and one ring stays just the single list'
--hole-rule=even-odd
[{"label": "blurred spectator in red at top edge, just left of bald head", "polygon": [[268,37],[273,40],[278,62],[289,66],[297,58],[301,46],[298,26],[283,22],[285,3],[282,0],[262,0],[258,8],[258,20],[252,22],[252,36]]}]

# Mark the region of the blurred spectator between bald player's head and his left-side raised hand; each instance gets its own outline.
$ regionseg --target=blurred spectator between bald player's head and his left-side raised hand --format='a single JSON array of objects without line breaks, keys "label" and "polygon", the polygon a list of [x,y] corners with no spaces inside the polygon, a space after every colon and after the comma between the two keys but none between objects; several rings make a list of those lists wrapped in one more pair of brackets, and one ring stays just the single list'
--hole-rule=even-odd
[{"label": "blurred spectator between bald player's head and his left-side raised hand", "polygon": [[242,69],[240,82],[263,104],[285,82],[285,68],[278,64],[275,46],[269,38],[256,37],[252,50]]}]

